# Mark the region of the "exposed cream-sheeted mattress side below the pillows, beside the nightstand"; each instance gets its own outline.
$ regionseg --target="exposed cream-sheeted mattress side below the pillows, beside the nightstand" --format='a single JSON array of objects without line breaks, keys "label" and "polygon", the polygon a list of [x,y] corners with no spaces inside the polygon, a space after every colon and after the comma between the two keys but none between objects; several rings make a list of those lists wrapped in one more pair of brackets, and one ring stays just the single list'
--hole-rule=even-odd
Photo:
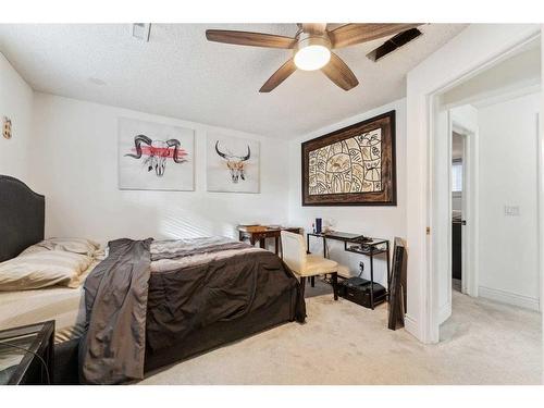
[{"label": "exposed cream-sheeted mattress side below the pillows, beside the nightstand", "polygon": [[76,288],[52,286],[0,292],[0,330],[54,320],[55,343],[79,337],[85,324],[83,283],[98,262],[94,261],[81,275],[81,284]]}]

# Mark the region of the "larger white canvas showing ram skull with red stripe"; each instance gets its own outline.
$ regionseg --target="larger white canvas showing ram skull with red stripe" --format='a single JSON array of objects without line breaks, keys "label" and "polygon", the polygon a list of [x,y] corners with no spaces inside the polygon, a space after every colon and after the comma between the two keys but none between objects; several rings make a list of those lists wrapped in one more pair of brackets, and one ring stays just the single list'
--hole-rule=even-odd
[{"label": "larger white canvas showing ram skull with red stripe", "polygon": [[194,190],[193,129],[119,119],[119,188]]}]

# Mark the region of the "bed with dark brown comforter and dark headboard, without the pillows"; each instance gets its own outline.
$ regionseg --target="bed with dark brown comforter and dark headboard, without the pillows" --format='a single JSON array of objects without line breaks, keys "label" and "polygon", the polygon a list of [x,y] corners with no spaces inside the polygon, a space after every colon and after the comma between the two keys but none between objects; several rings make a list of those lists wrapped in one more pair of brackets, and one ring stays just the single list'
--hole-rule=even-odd
[{"label": "bed with dark brown comforter and dark headboard, without the pillows", "polygon": [[[42,240],[44,224],[45,197],[0,175],[0,262]],[[115,239],[85,275],[77,288],[0,292],[0,326],[57,321],[61,384],[137,380],[306,317],[277,256],[224,238]]]}]

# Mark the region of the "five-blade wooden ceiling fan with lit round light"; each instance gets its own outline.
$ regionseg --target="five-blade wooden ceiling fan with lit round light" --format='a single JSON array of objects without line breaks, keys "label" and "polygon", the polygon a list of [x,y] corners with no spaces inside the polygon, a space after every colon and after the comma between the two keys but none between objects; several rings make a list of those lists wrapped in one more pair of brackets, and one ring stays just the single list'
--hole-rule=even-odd
[{"label": "five-blade wooden ceiling fan with lit round light", "polygon": [[[333,49],[355,46],[398,33],[403,34],[415,29],[420,24],[353,23],[331,30],[327,29],[326,23],[299,23],[297,25],[298,32],[295,37],[227,29],[207,29],[206,38],[209,41],[238,46],[292,49],[293,58],[272,74],[259,89],[260,92],[270,92],[297,69],[304,71],[321,70],[329,79],[342,89],[349,90],[359,85],[359,81],[346,63],[332,52]],[[419,32],[419,34],[421,33]],[[412,32],[412,35],[405,35],[403,38],[413,39],[419,34],[416,35]],[[395,36],[394,38],[398,37]],[[398,46],[395,48],[398,48]]]}]

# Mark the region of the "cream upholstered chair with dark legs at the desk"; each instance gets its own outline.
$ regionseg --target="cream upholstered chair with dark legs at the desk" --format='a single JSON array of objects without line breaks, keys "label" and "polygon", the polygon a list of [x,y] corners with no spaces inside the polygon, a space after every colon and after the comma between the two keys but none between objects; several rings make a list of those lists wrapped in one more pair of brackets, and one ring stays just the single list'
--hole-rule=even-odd
[{"label": "cream upholstered chair with dark legs at the desk", "polygon": [[306,254],[305,238],[300,234],[282,231],[282,257],[289,269],[300,277],[304,297],[306,279],[330,273],[334,300],[338,300],[338,263],[313,254]]}]

